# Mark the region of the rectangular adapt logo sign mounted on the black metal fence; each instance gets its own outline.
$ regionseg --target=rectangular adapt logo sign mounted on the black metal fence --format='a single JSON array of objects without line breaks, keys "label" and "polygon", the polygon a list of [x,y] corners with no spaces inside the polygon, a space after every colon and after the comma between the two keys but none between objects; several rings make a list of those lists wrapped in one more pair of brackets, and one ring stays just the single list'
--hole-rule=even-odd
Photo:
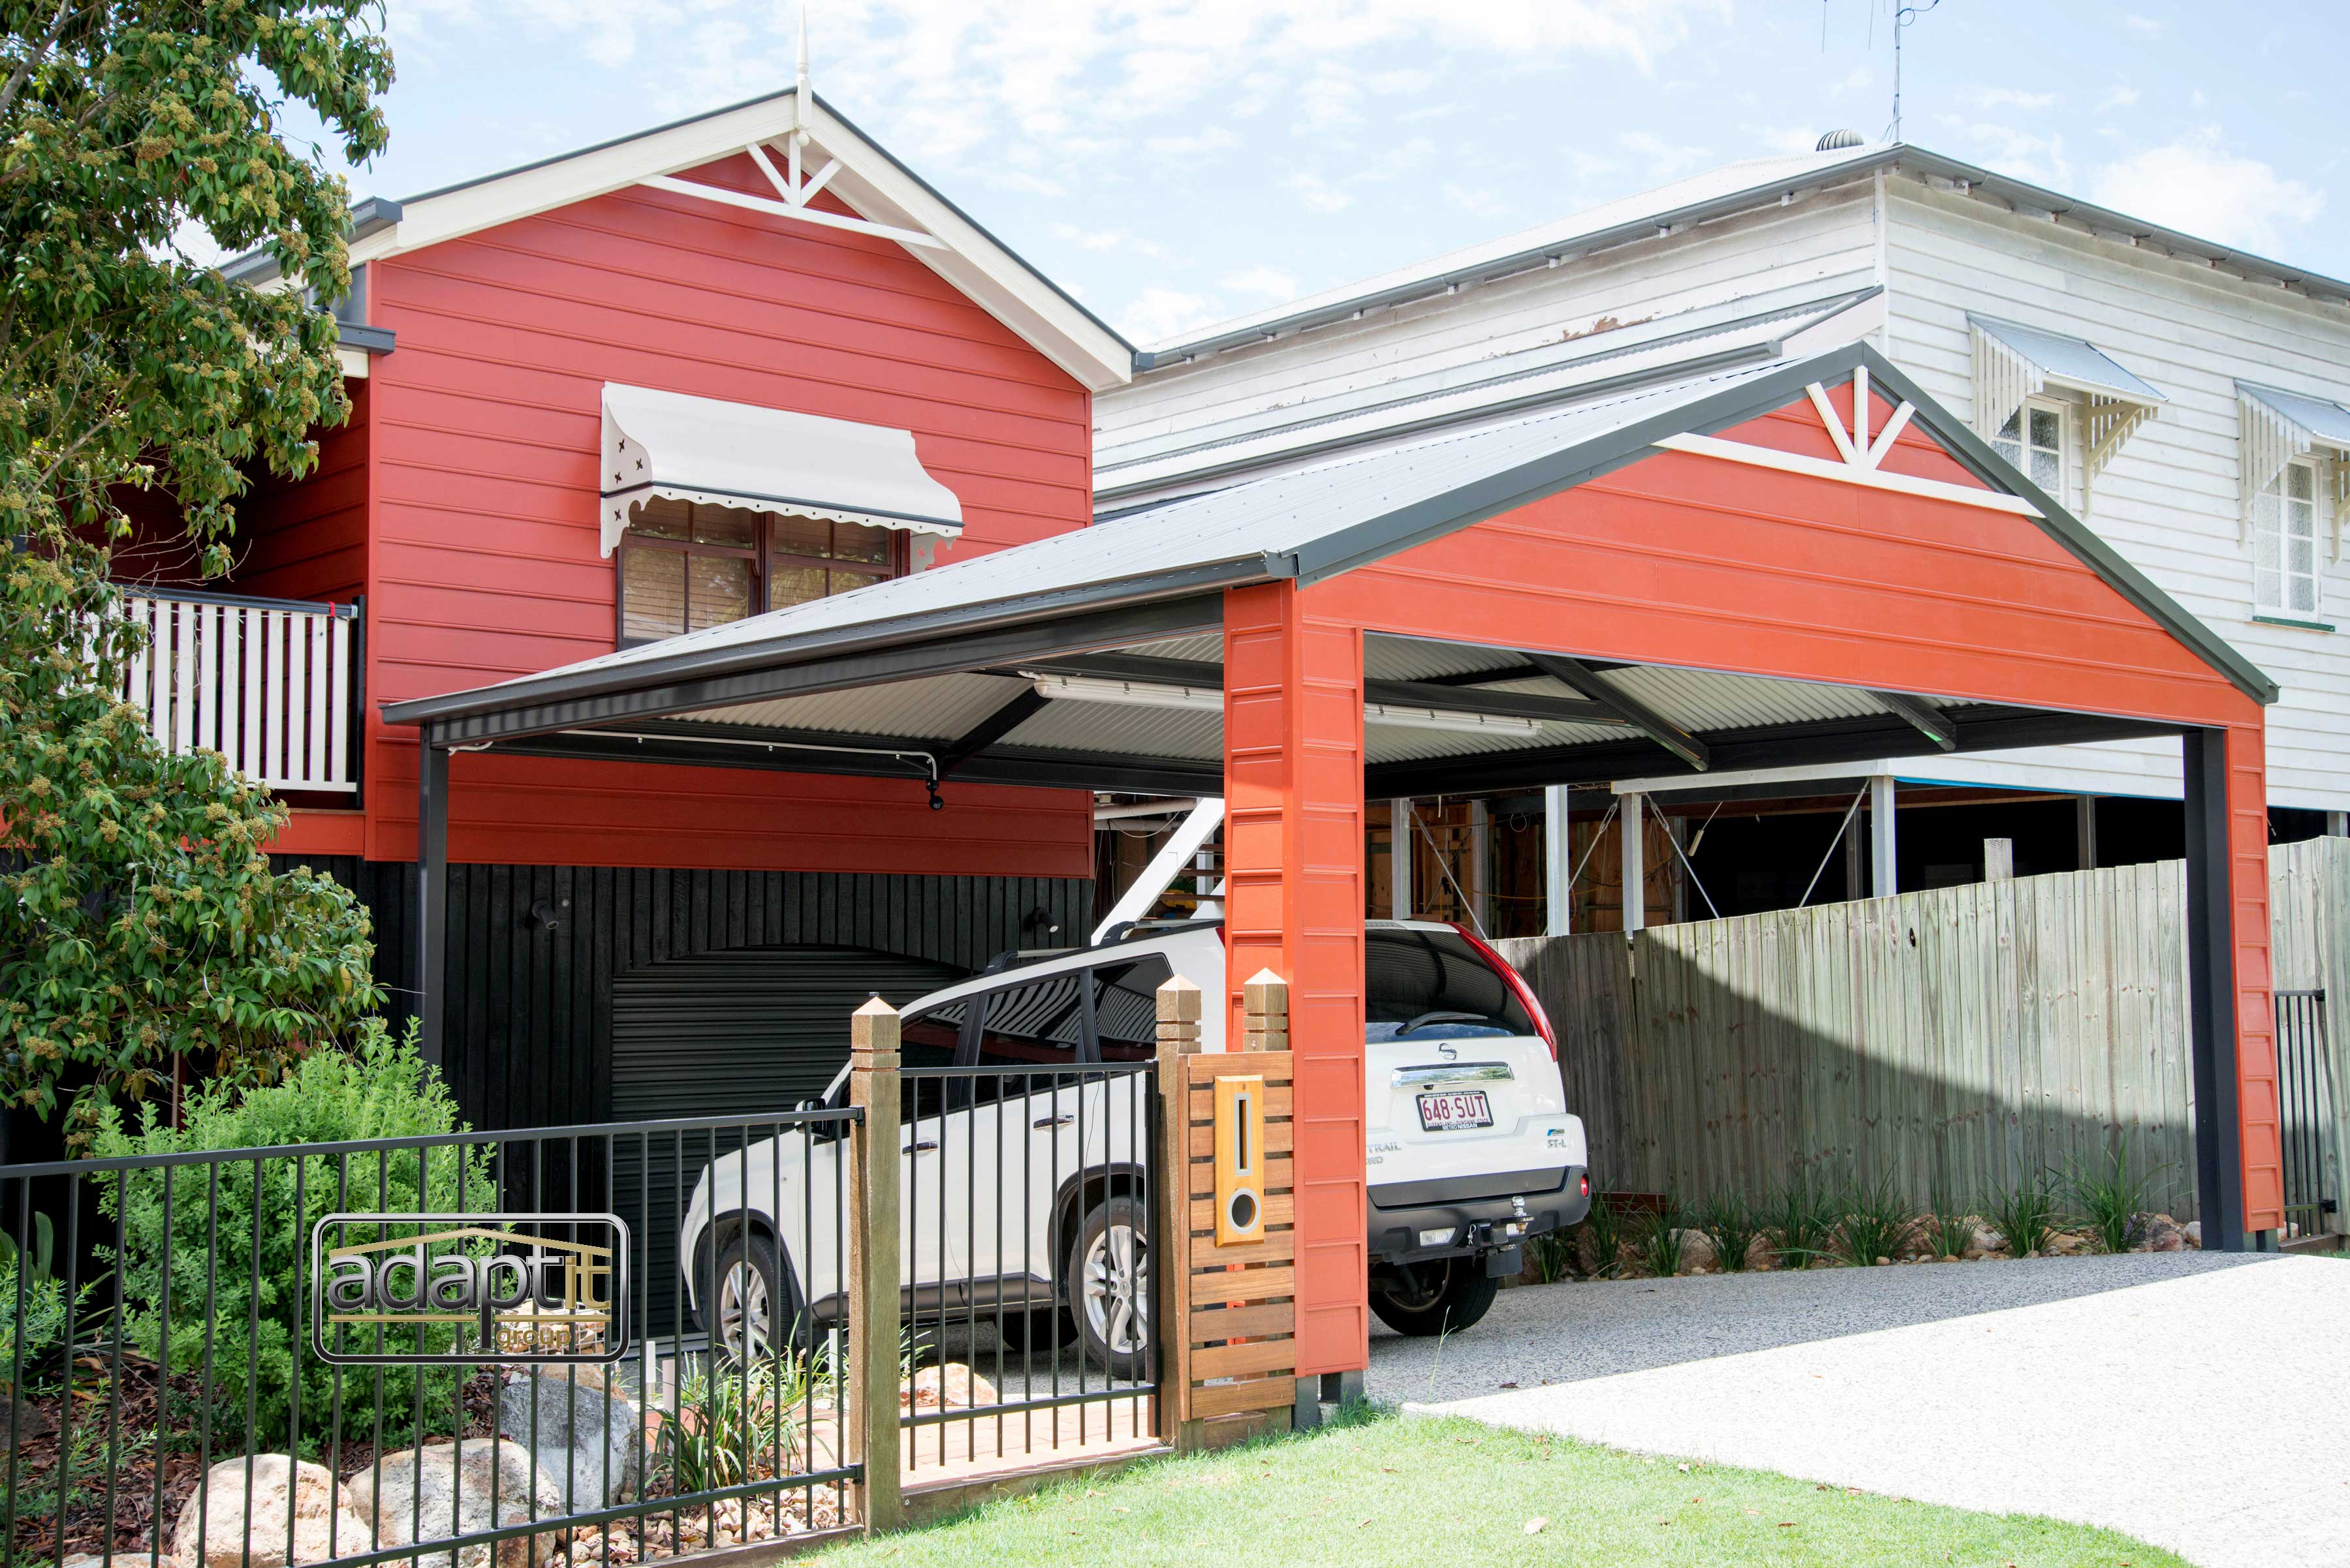
[{"label": "rectangular adapt logo sign mounted on the black metal fence", "polygon": [[618,1214],[329,1214],[310,1338],[355,1366],[618,1361],[627,1251]]}]

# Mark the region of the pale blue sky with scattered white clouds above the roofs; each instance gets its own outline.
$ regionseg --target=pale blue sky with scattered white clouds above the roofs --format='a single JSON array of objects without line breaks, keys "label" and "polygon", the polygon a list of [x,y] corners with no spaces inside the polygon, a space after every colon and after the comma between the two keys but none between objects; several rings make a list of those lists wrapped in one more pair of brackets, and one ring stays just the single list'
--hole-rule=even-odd
[{"label": "pale blue sky with scattered white clouds above the roofs", "polygon": [[[837,110],[1149,345],[1828,129],[1885,138],[1896,5],[808,0],[808,35]],[[797,16],[388,0],[392,141],[352,195],[787,87]],[[2350,277],[2338,0],[1901,16],[1906,141]]]}]

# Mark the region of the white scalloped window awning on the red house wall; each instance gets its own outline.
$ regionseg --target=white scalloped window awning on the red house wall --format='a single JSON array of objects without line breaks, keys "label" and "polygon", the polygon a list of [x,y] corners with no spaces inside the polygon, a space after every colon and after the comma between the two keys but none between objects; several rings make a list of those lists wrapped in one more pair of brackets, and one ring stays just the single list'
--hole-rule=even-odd
[{"label": "white scalloped window awning on the red house wall", "polygon": [[653,495],[907,533],[964,530],[914,432],[714,397],[604,385],[604,554]]}]

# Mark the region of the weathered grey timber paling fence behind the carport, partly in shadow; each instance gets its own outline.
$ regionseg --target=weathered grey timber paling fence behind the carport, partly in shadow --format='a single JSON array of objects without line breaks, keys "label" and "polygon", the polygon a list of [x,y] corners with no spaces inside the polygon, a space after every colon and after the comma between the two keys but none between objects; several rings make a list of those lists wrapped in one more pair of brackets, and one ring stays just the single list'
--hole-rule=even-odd
[{"label": "weathered grey timber paling fence behind the carport, partly in shadow", "polygon": [[[1499,946],[1558,1026],[1600,1190],[1765,1192],[1812,1169],[1974,1204],[2120,1148],[2148,1204],[2188,1218],[2183,892],[2160,861]],[[2350,998],[2350,840],[2275,847],[2270,906],[2275,984]],[[2282,1063],[2303,1075],[2287,1136],[2338,1197],[2350,1096],[2308,1073],[2350,1084],[2350,1030],[2326,1035]]]}]

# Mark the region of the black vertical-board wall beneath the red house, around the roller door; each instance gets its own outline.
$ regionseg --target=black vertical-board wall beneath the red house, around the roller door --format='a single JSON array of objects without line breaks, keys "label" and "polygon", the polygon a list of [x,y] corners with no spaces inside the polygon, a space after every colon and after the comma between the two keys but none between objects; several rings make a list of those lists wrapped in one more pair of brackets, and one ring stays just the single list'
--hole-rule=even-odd
[{"label": "black vertical-board wall beneath the red house, around the roller door", "polygon": [[[416,869],[355,857],[301,864],[369,904],[376,976],[404,1019]],[[449,866],[444,1073],[475,1127],[604,1122],[611,984],[637,965],[844,946],[978,969],[1003,948],[1081,941],[1090,901],[1083,878]],[[1039,930],[1032,911],[1060,932]],[[846,1028],[844,1016],[844,1038]]]}]

